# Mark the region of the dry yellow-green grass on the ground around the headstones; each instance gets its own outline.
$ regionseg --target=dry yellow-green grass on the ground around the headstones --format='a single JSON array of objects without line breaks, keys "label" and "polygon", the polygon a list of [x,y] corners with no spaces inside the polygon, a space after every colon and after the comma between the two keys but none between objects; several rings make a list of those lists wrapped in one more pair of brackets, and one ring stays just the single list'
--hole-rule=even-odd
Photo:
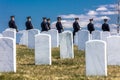
[{"label": "dry yellow-green grass on the ground around the headstones", "polygon": [[35,65],[34,50],[17,45],[17,72],[0,73],[0,80],[120,80],[120,66],[108,66],[108,76],[85,76],[85,53],[74,47],[74,59],[60,59],[52,49],[52,65]]}]

